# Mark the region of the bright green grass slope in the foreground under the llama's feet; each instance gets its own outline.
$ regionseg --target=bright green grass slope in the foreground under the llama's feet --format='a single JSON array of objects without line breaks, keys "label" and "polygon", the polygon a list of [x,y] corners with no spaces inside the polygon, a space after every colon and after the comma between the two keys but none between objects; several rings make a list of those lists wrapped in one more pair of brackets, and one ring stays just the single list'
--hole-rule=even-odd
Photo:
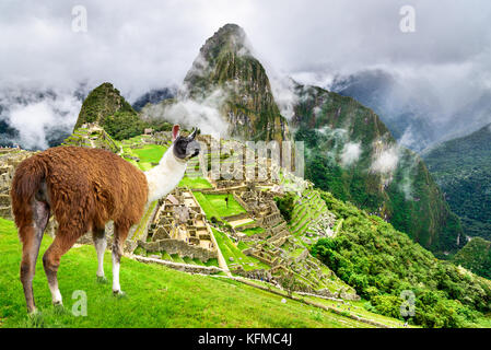
[{"label": "bright green grass slope in the foreground under the llama's feet", "polygon": [[[96,282],[97,259],[92,246],[70,249],[59,268],[65,311],[51,306],[40,264],[51,243],[45,236],[34,278],[40,314],[26,316],[19,266],[21,244],[11,221],[0,219],[0,327],[366,327],[369,325],[229,279],[187,275],[157,265],[122,258],[120,281],[126,298],[115,298],[110,282]],[[110,255],[106,253],[110,280]],[[87,316],[75,317],[72,293],[87,295]],[[314,317],[315,315],[315,317]]]}]

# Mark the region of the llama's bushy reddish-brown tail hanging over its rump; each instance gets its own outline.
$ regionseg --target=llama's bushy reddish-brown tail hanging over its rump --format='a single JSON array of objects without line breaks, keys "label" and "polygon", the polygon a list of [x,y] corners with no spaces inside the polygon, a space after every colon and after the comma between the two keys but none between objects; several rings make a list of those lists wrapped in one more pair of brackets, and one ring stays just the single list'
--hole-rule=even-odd
[{"label": "llama's bushy reddish-brown tail hanging over its rump", "polygon": [[15,170],[10,189],[12,212],[17,228],[32,223],[32,199],[39,190],[48,168],[44,160],[33,155],[23,161]]}]

